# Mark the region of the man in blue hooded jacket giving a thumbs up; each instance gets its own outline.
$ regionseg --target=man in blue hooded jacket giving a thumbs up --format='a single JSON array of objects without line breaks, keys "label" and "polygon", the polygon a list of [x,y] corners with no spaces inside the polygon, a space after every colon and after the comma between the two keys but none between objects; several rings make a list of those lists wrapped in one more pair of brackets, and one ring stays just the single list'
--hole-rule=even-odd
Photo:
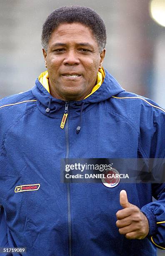
[{"label": "man in blue hooded jacket giving a thumbs up", "polygon": [[47,71],[0,101],[0,247],[28,256],[165,249],[164,184],[60,182],[62,158],[165,157],[165,110],[120,87],[102,67],[105,45],[95,11],[58,8],[42,29]]}]

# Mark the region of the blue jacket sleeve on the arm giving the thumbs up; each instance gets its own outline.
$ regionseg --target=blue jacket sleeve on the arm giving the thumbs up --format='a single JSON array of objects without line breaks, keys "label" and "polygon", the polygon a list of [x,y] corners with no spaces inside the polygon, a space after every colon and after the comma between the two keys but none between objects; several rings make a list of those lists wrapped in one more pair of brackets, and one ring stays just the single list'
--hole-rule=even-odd
[{"label": "blue jacket sleeve on the arm giving the thumbs up", "polygon": [[[160,107],[148,108],[141,123],[140,147],[143,156],[165,159],[165,110]],[[144,205],[141,211],[148,218],[148,238],[157,248],[165,249],[165,180],[161,184],[151,185],[152,195],[156,200]]]}]

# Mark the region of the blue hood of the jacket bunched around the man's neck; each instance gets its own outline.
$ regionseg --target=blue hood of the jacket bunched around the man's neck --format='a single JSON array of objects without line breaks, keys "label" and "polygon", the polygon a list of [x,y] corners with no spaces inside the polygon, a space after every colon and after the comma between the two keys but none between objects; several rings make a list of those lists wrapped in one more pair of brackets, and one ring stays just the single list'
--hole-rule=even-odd
[{"label": "blue hood of the jacket bunched around the man's neck", "polygon": [[[101,102],[109,99],[110,97],[117,95],[118,93],[125,91],[114,77],[105,69],[105,78],[102,85],[89,97],[84,100],[70,101],[70,109],[74,109],[72,117],[80,115],[80,106],[84,105],[83,110],[93,107],[94,103]],[[50,118],[61,118],[61,112],[64,112],[65,101],[56,99],[50,95],[50,93],[43,87],[37,78],[35,81],[35,87],[32,88],[32,94],[37,99],[37,107],[44,114]],[[45,110],[50,108],[50,112],[46,113]],[[72,112],[72,111],[71,111]]]}]

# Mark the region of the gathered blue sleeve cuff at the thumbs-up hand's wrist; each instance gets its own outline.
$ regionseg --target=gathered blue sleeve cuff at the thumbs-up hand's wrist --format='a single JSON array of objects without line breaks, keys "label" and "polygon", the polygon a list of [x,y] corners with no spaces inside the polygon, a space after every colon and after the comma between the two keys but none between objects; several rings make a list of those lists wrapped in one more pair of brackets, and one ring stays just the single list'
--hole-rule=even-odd
[{"label": "gathered blue sleeve cuff at the thumbs-up hand's wrist", "polygon": [[140,211],[143,212],[145,216],[148,218],[148,223],[149,223],[148,236],[155,235],[158,232],[158,229],[157,229],[156,217],[153,214],[152,210],[150,210],[149,208],[143,209],[142,207]]}]

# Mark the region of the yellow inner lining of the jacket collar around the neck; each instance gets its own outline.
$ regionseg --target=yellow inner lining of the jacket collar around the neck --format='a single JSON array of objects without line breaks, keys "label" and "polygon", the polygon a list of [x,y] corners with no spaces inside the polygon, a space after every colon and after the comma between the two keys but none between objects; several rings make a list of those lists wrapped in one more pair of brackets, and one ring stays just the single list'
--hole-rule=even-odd
[{"label": "yellow inner lining of the jacket collar around the neck", "polygon": [[[92,95],[95,91],[98,90],[98,88],[102,85],[102,83],[104,82],[104,78],[105,78],[105,71],[104,68],[102,67],[101,69],[99,69],[98,73],[97,73],[97,82],[96,85],[93,87],[92,91],[90,92],[90,94],[88,94],[83,100],[85,100],[87,97],[89,97],[90,95]],[[47,71],[42,72],[40,74],[40,76],[38,77],[40,83],[43,85],[43,87],[47,90],[47,92],[50,93],[49,90],[49,74]]]}]

